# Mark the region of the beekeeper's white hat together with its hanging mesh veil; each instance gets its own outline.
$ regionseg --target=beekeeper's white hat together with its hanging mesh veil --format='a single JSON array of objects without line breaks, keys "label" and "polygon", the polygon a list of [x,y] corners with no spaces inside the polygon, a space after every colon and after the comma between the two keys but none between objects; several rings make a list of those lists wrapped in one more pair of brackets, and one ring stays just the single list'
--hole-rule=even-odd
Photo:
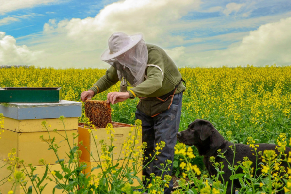
[{"label": "beekeeper's white hat together with its hanging mesh veil", "polygon": [[141,34],[129,36],[123,32],[113,33],[101,60],[117,69],[119,80],[125,77],[133,87],[144,81],[148,51]]}]

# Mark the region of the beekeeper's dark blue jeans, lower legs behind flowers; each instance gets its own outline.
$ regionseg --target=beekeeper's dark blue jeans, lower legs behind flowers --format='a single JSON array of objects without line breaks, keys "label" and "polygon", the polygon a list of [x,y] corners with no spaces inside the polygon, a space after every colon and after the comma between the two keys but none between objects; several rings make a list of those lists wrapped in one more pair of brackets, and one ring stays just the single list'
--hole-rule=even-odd
[{"label": "beekeeper's dark blue jeans, lower legs behind flowers", "polygon": [[[170,109],[163,111],[155,117],[147,116],[145,113],[136,110],[135,118],[142,121],[142,133],[143,142],[147,143],[147,148],[144,153],[144,157],[148,159],[144,162],[146,165],[151,157],[154,156],[154,150],[156,144],[164,141],[165,147],[160,151],[161,153],[156,157],[157,160],[151,162],[148,167],[143,170],[143,175],[146,179],[150,179],[150,174],[154,173],[155,176],[161,176],[161,171],[157,168],[161,168],[161,163],[165,165],[166,160],[174,160],[174,146],[177,142],[177,136],[180,125],[181,109],[182,109],[182,97],[183,93],[174,95],[173,102]],[[157,166],[157,167],[156,167]],[[170,171],[166,171],[165,174],[172,175],[173,163],[170,166]],[[162,177],[163,177],[162,176]],[[146,180],[144,181],[144,185]],[[169,188],[165,188],[164,193],[170,194],[173,188],[173,180],[170,181]]]}]

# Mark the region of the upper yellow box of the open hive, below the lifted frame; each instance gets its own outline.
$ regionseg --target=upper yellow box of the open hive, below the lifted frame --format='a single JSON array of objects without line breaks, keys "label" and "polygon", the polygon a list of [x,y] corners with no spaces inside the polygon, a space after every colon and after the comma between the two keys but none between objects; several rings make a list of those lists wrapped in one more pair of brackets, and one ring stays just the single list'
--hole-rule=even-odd
[{"label": "upper yellow box of the open hive, below the lifted frame", "polygon": [[[113,150],[113,160],[117,160],[119,158],[124,158],[124,155],[121,153],[119,156],[119,153],[122,149],[122,144],[126,140],[126,138],[129,136],[129,131],[131,130],[131,126],[129,124],[123,124],[123,123],[117,123],[117,122],[112,122],[113,127],[114,127],[114,139],[116,141],[113,141],[113,145],[115,146]],[[89,161],[89,162],[94,162],[99,161],[98,158],[98,153],[96,149],[96,145],[98,148],[99,154],[101,153],[101,145],[99,143],[100,140],[105,140],[105,142],[110,145],[110,140],[107,138],[110,136],[110,134],[106,133],[105,128],[97,128],[97,131],[92,129],[93,136],[88,132],[88,128],[85,128],[83,124],[79,124],[78,126],[78,133],[79,133],[79,142],[83,141],[83,145],[87,147],[88,151],[85,149],[84,146],[79,145],[79,150],[82,151],[82,155],[80,159],[84,161]],[[97,135],[98,139],[94,141],[94,137]],[[140,146],[142,143],[142,139],[139,141],[135,147]],[[92,153],[92,156],[90,156],[90,153]],[[117,154],[114,154],[117,153]],[[95,160],[94,160],[95,159]]]}]

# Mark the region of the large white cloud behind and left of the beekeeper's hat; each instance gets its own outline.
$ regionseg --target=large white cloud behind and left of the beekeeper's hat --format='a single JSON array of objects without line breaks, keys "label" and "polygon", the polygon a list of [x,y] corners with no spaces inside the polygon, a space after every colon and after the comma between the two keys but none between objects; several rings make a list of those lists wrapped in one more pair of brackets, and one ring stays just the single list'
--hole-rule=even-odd
[{"label": "large white cloud behind and left of the beekeeper's hat", "polygon": [[100,56],[108,48],[107,40],[113,32],[142,32],[147,43],[163,46],[182,44],[183,37],[173,36],[169,28],[199,4],[200,0],[119,1],[105,6],[95,17],[50,19],[42,35],[19,41],[46,53],[37,66],[107,68]]}]

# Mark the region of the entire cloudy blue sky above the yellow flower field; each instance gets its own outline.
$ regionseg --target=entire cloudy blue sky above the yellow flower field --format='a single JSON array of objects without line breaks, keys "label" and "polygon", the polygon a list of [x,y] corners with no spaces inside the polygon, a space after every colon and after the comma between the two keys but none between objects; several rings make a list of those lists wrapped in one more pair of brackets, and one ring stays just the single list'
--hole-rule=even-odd
[{"label": "entire cloudy blue sky above the yellow flower field", "polygon": [[0,65],[108,68],[113,32],[178,67],[291,65],[290,0],[0,0]]}]

